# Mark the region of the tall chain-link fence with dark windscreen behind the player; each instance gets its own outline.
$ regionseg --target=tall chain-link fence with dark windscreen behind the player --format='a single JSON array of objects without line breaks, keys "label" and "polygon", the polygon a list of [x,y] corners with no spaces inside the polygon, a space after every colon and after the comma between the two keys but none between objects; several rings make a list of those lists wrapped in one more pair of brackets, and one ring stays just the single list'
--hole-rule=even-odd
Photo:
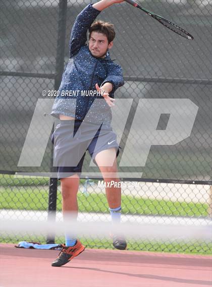
[{"label": "tall chain-link fence with dark windscreen behind the player", "polygon": [[[19,167],[17,163],[37,102],[43,100],[42,91],[59,88],[68,61],[70,30],[76,16],[89,3],[86,0],[0,2],[3,218],[46,220],[46,210],[55,212],[58,187],[56,216],[62,220],[60,183],[51,178],[49,184],[44,177],[52,177],[54,171],[50,133],[39,167]],[[190,220],[189,224],[208,224],[212,213],[209,61],[212,3],[211,0],[140,3],[188,30],[194,40],[178,36],[127,3],[114,5],[98,16],[115,24],[111,58],[122,66],[125,78],[125,85],[116,92],[120,100],[117,122],[122,123],[124,119],[125,123],[123,128],[121,124],[116,127],[122,147],[119,171],[122,182],[127,183],[127,187],[122,188],[122,220],[165,224],[176,220],[187,224]],[[124,100],[123,106],[121,100]],[[138,115],[139,121],[135,121]],[[177,132],[188,125],[191,115],[194,115],[193,121],[186,132],[183,130],[184,138],[179,138]],[[46,118],[43,117],[44,123]],[[164,137],[169,140],[171,130],[176,139],[165,144]],[[35,138],[38,133],[45,134],[45,129],[35,132]],[[148,144],[142,146],[143,142]],[[98,168],[89,166],[89,155],[84,163],[84,177],[95,178],[92,173],[95,175]],[[29,173],[43,177],[24,177]],[[81,180],[78,195],[81,219],[89,215],[94,221],[110,220],[104,188],[98,187],[98,183],[95,179]],[[51,191],[52,186],[55,191]],[[3,241],[23,239],[45,241],[30,234],[26,238],[2,237]],[[86,243],[98,248],[111,246],[101,238]],[[202,253],[209,253],[211,247],[205,242],[179,246],[169,242],[134,242],[133,239],[129,246],[138,250]]]}]

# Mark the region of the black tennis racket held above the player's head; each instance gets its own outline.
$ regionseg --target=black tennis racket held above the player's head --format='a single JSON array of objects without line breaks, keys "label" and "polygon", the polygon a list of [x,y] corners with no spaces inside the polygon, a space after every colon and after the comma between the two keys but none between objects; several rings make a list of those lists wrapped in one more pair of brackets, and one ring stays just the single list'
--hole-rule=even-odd
[{"label": "black tennis racket held above the player's head", "polygon": [[189,39],[189,40],[193,40],[193,36],[191,34],[189,34],[186,30],[184,30],[183,28],[180,28],[178,25],[172,23],[171,21],[157,15],[154,14],[153,12],[142,8],[140,5],[138,5],[135,1],[133,0],[125,0],[127,3],[131,4],[132,6],[139,8],[140,10],[144,11],[147,15],[153,17],[154,19],[156,19],[158,22],[160,22],[161,24],[163,24],[165,27],[169,28],[170,30],[172,30],[173,32],[177,33],[178,35]]}]

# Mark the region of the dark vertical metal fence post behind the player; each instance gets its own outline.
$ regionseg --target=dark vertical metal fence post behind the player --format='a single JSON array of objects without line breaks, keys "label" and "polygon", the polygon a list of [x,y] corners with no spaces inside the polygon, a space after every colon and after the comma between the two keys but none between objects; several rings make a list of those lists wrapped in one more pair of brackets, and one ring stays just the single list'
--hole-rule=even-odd
[{"label": "dark vertical metal fence post behind the player", "polygon": [[[54,89],[58,90],[64,70],[65,43],[66,43],[67,0],[59,0],[59,22],[56,56],[56,76]],[[54,127],[53,127],[54,131]],[[51,172],[56,172],[53,166],[54,147],[51,147]],[[58,179],[49,179],[48,216],[47,220],[56,219]],[[47,235],[46,243],[55,243],[55,236]]]}]

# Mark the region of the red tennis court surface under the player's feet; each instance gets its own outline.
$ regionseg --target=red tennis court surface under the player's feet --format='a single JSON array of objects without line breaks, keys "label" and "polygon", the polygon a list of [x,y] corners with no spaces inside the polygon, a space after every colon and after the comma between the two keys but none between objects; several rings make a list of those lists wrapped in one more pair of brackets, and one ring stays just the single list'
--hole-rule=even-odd
[{"label": "red tennis court surface under the player's feet", "polygon": [[211,286],[210,256],[86,249],[51,267],[59,251],[0,247],[1,287]]}]

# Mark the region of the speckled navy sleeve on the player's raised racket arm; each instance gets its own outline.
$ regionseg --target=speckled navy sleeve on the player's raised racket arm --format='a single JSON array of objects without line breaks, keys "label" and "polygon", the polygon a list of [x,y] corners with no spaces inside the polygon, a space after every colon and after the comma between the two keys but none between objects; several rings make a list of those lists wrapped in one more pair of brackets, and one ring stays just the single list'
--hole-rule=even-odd
[{"label": "speckled navy sleeve on the player's raised racket arm", "polygon": [[92,4],[89,4],[77,16],[69,40],[69,58],[74,56],[79,51],[81,46],[85,44],[87,40],[87,30],[90,28],[91,24],[100,12],[101,11],[93,8]]}]

